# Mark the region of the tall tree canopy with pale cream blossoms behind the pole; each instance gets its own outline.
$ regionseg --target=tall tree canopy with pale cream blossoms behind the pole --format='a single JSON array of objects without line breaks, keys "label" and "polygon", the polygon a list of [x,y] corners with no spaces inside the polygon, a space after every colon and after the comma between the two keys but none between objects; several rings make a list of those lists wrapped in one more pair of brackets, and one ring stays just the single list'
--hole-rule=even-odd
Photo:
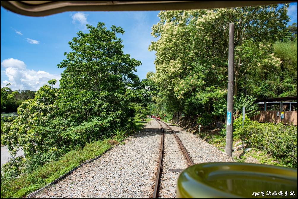
[{"label": "tall tree canopy with pale cream blossoms behind the pole", "polygon": [[235,24],[235,97],[243,88],[267,97],[260,86],[280,71],[272,43],[288,34],[287,7],[161,11],[151,32],[159,40],[149,50],[156,51],[153,79],[168,106],[185,114],[211,113],[225,97],[229,23]]}]

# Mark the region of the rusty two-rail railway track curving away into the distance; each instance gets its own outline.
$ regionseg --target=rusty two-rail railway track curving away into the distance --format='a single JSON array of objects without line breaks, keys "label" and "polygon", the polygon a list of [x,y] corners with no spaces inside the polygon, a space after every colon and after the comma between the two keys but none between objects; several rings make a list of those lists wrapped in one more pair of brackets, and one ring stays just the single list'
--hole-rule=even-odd
[{"label": "rusty two-rail railway track curving away into the distance", "polygon": [[[173,129],[163,121],[158,121],[158,120],[156,121],[159,123],[160,128],[162,130],[162,139],[161,139],[160,152],[159,152],[160,154],[159,164],[156,172],[156,181],[154,184],[154,191],[153,191],[152,198],[158,198],[161,195],[161,190],[160,190],[161,187],[163,187],[164,190],[171,190],[166,188],[168,184],[170,184],[170,182],[169,181],[163,182],[163,180],[168,179],[169,175],[171,175],[173,172],[176,172],[179,174],[181,170],[185,169],[188,166],[194,165],[192,158],[188,154],[187,150],[185,149],[184,145],[182,144],[181,140],[176,135],[176,133],[173,131]],[[162,125],[166,126],[167,130],[165,130]],[[170,131],[170,133],[165,133],[166,131]],[[176,142],[174,141],[173,136]],[[166,145],[164,146],[165,140],[168,143],[166,143]],[[177,149],[177,147],[179,149]],[[164,149],[166,149],[166,151],[164,151]],[[169,152],[169,150],[172,152]],[[167,161],[176,159],[177,160],[175,162],[176,164],[164,162],[164,159],[163,159],[164,155],[166,156],[165,158],[167,159]],[[179,159],[179,156],[180,157],[184,156],[184,160],[181,160],[181,158]],[[167,168],[168,166],[176,166],[176,167],[179,167],[180,169],[168,169]],[[162,175],[164,178],[161,178]],[[176,176],[173,176],[173,177],[176,178]],[[176,183],[176,180],[175,180],[175,183]]]}]

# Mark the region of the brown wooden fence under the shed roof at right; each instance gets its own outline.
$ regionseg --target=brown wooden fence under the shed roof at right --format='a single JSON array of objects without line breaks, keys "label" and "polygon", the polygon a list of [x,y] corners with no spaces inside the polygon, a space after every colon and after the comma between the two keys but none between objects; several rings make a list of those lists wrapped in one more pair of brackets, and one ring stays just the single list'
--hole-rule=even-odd
[{"label": "brown wooden fence under the shed roof at right", "polygon": [[[281,118],[282,112],[284,113],[284,118]],[[297,126],[297,114],[297,111],[260,111],[259,114],[252,116],[251,120],[275,124],[283,122],[284,124]]]}]

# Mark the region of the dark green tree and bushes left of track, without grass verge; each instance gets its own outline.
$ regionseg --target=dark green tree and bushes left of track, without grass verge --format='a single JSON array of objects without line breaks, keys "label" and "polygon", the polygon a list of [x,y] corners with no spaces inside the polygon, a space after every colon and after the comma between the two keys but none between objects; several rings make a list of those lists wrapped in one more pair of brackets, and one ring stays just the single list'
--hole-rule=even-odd
[{"label": "dark green tree and bushes left of track, without grass verge", "polygon": [[14,154],[22,147],[27,159],[43,163],[110,137],[116,128],[131,129],[131,102],[145,96],[134,74],[141,62],[123,53],[116,37],[124,33],[121,27],[108,30],[101,22],[86,26],[89,33],[77,32],[69,42],[72,52],[58,64],[65,68],[60,88],[41,87],[18,108],[18,118],[5,125],[1,141]]}]

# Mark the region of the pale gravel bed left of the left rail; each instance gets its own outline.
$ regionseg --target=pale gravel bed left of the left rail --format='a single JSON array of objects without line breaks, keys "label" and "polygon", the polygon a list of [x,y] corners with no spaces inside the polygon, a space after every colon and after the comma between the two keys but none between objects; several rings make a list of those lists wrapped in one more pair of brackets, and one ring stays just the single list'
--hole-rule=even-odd
[{"label": "pale gravel bed left of the left rail", "polygon": [[161,130],[152,120],[141,133],[85,164],[35,198],[149,198],[157,170]]}]

